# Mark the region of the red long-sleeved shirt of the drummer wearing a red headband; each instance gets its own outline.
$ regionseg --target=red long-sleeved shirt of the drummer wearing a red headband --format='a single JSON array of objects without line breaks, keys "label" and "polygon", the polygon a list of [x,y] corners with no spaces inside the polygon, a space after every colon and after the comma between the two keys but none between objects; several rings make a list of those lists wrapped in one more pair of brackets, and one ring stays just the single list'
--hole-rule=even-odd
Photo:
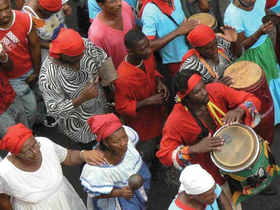
[{"label": "red long-sleeved shirt of the drummer wearing a red headband", "polygon": [[[260,110],[261,108],[260,100],[253,94],[243,91],[236,91],[235,89],[221,83],[209,83],[206,85],[206,87],[210,101],[225,113],[227,113],[229,110],[237,108],[244,101],[252,102],[257,110]],[[250,125],[251,115],[246,108],[244,109],[246,111],[245,123],[247,125]],[[216,130],[218,130],[221,126],[217,123],[209,108],[208,111],[214,119],[215,124],[217,125]],[[216,113],[219,118],[222,118],[222,115],[220,113]],[[201,121],[204,126],[208,128],[202,119]],[[215,131],[212,131],[210,128],[208,128],[208,130],[213,136]],[[186,111],[185,107],[181,103],[175,104],[171,114],[167,118],[162,131],[160,149],[156,154],[159,161],[162,164],[171,167],[173,165],[173,151],[180,145],[188,146],[198,143],[198,136],[201,132],[201,127],[192,117],[191,113],[189,111]],[[224,179],[220,176],[219,169],[211,160],[210,153],[197,154],[194,158],[190,158],[190,162],[192,164],[200,164],[202,168],[207,170],[207,172],[212,175],[218,185],[221,186],[224,182]]]}]

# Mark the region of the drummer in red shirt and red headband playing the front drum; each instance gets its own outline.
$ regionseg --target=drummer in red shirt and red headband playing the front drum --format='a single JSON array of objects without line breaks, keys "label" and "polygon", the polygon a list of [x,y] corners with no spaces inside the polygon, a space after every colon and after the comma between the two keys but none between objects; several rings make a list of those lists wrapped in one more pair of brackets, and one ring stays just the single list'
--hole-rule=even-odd
[{"label": "drummer in red shirt and red headband playing the front drum", "polygon": [[210,151],[219,149],[225,140],[211,136],[221,126],[241,119],[248,126],[258,125],[260,100],[220,83],[205,85],[200,73],[191,69],[178,72],[172,86],[178,103],[167,118],[156,156],[162,164],[179,169],[200,164],[233,202],[228,183],[210,158]]}]

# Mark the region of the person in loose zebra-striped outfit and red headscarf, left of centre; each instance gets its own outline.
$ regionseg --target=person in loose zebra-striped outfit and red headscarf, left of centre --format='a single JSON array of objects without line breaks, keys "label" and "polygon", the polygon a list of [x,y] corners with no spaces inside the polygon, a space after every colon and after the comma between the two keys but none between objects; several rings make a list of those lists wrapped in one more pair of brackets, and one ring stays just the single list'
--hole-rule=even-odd
[{"label": "person in loose zebra-striped outfit and red headscarf, left of centre", "polygon": [[94,141],[88,118],[110,112],[104,89],[97,82],[98,68],[107,58],[105,51],[73,29],[62,28],[49,52],[39,76],[47,113],[58,117],[61,130],[72,140]]}]

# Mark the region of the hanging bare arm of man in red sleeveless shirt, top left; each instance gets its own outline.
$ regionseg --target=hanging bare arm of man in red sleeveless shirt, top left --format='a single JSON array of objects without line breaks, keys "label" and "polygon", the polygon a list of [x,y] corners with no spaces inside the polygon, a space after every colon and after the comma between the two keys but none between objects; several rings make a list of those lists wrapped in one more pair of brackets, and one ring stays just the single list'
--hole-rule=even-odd
[{"label": "hanging bare arm of man in red sleeveless shirt, top left", "polygon": [[34,68],[34,74],[36,76],[39,76],[41,69],[41,48],[39,45],[38,35],[34,27],[34,23],[32,25],[31,32],[29,33],[29,35],[27,35],[27,41],[30,47],[30,55]]}]

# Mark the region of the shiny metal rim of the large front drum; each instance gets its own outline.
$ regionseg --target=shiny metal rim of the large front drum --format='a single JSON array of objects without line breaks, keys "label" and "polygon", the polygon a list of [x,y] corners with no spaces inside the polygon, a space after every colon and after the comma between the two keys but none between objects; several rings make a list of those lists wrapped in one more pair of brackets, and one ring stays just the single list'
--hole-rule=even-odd
[{"label": "shiny metal rim of the large front drum", "polygon": [[[230,173],[244,171],[245,169],[249,168],[251,165],[253,165],[255,163],[255,161],[257,160],[257,158],[259,156],[259,153],[260,153],[259,137],[258,137],[257,133],[252,128],[250,128],[249,126],[241,124],[241,123],[233,123],[233,125],[235,125],[235,126],[237,125],[237,126],[247,128],[254,134],[254,137],[257,140],[257,151],[256,151],[256,154],[254,155],[253,159],[249,163],[247,163],[245,166],[243,166],[242,168],[239,168],[239,169],[228,169],[228,168],[224,168],[224,167],[220,166],[218,163],[216,163],[213,151],[211,151],[210,156],[211,156],[212,162],[222,171],[230,172]],[[225,126],[220,127],[214,133],[213,137],[215,137],[217,135],[217,133],[225,127],[228,127],[228,126],[225,125]]]}]

